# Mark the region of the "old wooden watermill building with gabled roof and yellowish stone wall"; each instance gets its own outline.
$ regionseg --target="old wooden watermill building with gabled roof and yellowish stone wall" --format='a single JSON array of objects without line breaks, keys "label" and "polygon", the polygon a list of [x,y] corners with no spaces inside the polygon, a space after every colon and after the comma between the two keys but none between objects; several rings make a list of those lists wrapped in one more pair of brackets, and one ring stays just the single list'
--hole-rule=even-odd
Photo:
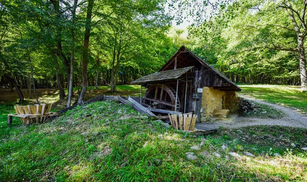
[{"label": "old wooden watermill building with gabled roof and yellowish stone wall", "polygon": [[184,46],[157,73],[132,83],[146,87],[141,102],[151,111],[194,112],[200,121],[215,109],[239,108],[241,88]]}]

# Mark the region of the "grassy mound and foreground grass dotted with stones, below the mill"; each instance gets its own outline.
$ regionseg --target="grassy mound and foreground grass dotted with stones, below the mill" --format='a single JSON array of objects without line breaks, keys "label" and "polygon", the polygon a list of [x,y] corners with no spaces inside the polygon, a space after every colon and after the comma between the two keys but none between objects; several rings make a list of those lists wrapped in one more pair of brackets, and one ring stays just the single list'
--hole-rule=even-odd
[{"label": "grassy mound and foreground grass dotted with stones, below the mill", "polygon": [[[1,105],[0,181],[304,181],[307,130],[254,126],[194,138],[116,102],[78,106],[39,125],[7,127]],[[130,119],[120,119],[124,115]],[[200,145],[200,150],[191,150]],[[296,148],[291,146],[296,144]],[[225,144],[228,149],[222,150]],[[238,147],[239,146],[239,147]],[[242,146],[242,147],[241,147]],[[242,149],[243,148],[243,149]],[[198,160],[189,161],[192,151]],[[204,157],[218,152],[221,158]],[[246,157],[244,151],[256,157]],[[237,152],[242,158],[229,156]],[[274,153],[281,154],[275,157]]]}]

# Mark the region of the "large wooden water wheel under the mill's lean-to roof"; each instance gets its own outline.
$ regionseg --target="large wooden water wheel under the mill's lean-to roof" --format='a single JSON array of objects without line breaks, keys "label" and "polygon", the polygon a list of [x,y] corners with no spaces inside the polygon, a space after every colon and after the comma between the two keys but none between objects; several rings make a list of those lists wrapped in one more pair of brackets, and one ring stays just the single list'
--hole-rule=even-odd
[{"label": "large wooden water wheel under the mill's lean-to roof", "polygon": [[145,92],[143,105],[156,107],[157,109],[179,111],[179,97],[176,100],[176,91],[164,84],[151,85]]}]

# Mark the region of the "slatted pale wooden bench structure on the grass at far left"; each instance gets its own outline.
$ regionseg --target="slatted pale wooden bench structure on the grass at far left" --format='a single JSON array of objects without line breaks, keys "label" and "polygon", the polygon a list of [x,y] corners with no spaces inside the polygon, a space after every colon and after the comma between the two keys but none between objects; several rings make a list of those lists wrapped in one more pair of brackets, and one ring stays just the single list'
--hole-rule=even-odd
[{"label": "slatted pale wooden bench structure on the grass at far left", "polygon": [[8,114],[8,125],[12,124],[12,118],[18,117],[23,125],[45,121],[46,117],[58,116],[57,112],[50,112],[52,104],[35,104],[14,106],[16,113]]}]

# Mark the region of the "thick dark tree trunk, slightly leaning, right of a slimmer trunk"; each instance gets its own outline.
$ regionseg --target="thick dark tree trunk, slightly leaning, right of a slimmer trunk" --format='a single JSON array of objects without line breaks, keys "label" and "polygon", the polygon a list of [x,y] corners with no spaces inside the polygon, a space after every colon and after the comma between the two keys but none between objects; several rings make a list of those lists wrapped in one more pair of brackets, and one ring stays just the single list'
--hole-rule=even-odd
[{"label": "thick dark tree trunk, slightly leaning, right of a slimmer trunk", "polygon": [[82,100],[86,93],[87,86],[87,60],[89,56],[89,42],[91,35],[91,19],[92,19],[92,10],[94,6],[94,0],[89,0],[87,5],[86,12],[86,21],[85,21],[85,33],[84,33],[84,45],[83,45],[83,60],[82,60],[82,89],[78,99],[78,104],[82,103]]}]

